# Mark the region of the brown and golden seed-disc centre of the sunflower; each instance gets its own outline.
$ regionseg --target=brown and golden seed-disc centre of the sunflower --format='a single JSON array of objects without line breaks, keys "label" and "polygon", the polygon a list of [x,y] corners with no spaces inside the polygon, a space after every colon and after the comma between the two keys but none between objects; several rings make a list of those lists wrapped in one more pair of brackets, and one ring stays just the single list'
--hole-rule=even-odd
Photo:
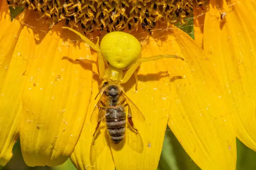
[{"label": "brown and golden seed-disc centre of the sunflower", "polygon": [[53,27],[64,20],[69,27],[93,30],[146,30],[156,23],[184,22],[192,17],[195,4],[206,5],[208,0],[7,0],[9,5],[38,10]]}]

